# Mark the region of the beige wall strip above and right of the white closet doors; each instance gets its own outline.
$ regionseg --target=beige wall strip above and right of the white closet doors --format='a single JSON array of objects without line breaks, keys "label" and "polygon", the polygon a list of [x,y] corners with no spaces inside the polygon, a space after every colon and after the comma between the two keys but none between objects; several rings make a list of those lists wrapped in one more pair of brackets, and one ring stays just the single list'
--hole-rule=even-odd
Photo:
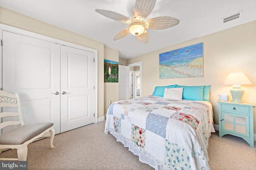
[{"label": "beige wall strip above and right of the white closet doors", "polygon": [[2,7],[0,23],[98,50],[98,117],[104,116],[104,43]]}]

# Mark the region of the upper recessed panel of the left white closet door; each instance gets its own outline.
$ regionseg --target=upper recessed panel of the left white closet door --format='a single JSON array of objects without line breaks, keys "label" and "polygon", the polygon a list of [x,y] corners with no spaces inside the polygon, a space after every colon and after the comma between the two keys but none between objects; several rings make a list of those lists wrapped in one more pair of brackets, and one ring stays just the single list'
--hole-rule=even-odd
[{"label": "upper recessed panel of the left white closet door", "polygon": [[50,48],[18,43],[16,62],[19,89],[50,89],[50,53]]}]

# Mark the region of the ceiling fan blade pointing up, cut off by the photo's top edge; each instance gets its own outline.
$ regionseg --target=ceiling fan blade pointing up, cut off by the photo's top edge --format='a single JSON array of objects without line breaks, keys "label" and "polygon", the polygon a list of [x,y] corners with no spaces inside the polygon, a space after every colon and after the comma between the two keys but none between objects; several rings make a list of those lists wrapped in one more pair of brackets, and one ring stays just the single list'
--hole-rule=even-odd
[{"label": "ceiling fan blade pointing up, cut off by the photo's top edge", "polygon": [[156,0],[136,0],[135,16],[138,20],[144,20],[149,16],[156,5]]}]

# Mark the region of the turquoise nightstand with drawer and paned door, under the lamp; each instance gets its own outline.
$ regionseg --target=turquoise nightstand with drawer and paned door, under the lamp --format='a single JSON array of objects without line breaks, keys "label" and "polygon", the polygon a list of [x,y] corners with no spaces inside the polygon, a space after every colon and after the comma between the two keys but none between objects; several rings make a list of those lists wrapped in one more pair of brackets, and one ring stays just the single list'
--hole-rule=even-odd
[{"label": "turquoise nightstand with drawer and paned door, under the lamp", "polygon": [[254,147],[253,107],[251,103],[219,103],[219,136],[234,135],[241,137]]}]

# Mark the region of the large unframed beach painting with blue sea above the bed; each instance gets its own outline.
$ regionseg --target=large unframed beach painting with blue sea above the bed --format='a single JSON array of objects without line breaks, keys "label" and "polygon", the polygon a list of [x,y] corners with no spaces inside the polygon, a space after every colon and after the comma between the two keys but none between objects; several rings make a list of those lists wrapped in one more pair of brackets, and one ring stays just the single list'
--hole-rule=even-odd
[{"label": "large unframed beach painting with blue sea above the bed", "polygon": [[203,76],[203,43],[159,54],[159,78]]}]

